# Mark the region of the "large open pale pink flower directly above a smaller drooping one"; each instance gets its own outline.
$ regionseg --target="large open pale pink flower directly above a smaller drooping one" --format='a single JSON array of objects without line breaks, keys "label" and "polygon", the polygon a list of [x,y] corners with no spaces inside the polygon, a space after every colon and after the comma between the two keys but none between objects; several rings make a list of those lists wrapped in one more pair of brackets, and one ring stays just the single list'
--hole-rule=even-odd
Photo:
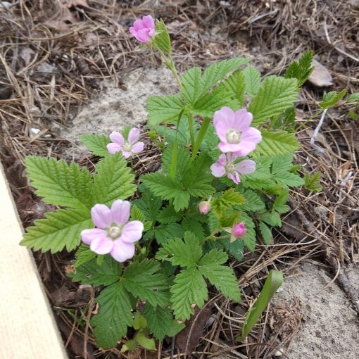
[{"label": "large open pale pink flower directly above a smaller drooping one", "polygon": [[213,125],[215,132],[220,137],[218,148],[222,152],[234,152],[237,156],[247,156],[256,149],[262,135],[254,127],[249,127],[253,120],[246,108],[234,112],[232,108],[222,107],[215,111]]}]

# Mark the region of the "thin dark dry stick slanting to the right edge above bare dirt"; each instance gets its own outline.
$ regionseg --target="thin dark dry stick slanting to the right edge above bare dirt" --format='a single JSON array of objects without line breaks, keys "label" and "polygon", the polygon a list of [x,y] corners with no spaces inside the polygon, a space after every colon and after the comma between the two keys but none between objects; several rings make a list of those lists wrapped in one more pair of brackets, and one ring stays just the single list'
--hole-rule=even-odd
[{"label": "thin dark dry stick slanting to the right edge above bare dirt", "polygon": [[[289,206],[291,206],[291,208],[296,208],[296,214],[298,215],[298,218],[303,223],[303,227],[305,227],[308,231],[313,232],[313,235],[315,237],[317,237],[318,240],[320,240],[319,235],[317,234],[317,232],[313,231],[313,228],[314,228],[313,224],[308,221],[308,219],[306,218],[306,215],[301,211],[301,209],[298,208],[297,203],[293,199],[289,199]],[[333,270],[336,272],[337,277],[338,277],[338,282],[339,282],[339,284],[341,286],[341,289],[344,290],[344,292],[348,296],[349,300],[351,301],[354,310],[359,315],[359,294],[358,294],[358,291],[356,291],[351,286],[351,284],[349,282],[349,279],[348,279],[346,273],[344,272],[343,268],[340,268],[338,266],[338,263],[337,263],[336,259],[334,258],[334,256],[329,251],[330,248],[327,245],[327,243],[325,243],[325,241],[320,241],[320,243],[321,243],[321,246],[322,246],[322,250],[325,253],[327,253],[327,256],[325,257],[325,260],[333,268]]]}]

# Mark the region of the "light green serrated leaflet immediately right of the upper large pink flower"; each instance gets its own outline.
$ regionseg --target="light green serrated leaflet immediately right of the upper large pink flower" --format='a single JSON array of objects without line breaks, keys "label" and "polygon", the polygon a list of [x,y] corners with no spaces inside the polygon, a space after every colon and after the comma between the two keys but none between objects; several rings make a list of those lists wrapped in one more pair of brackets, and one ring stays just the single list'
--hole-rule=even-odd
[{"label": "light green serrated leaflet immediately right of the upper large pink flower", "polygon": [[262,141],[253,151],[252,156],[275,157],[286,153],[293,153],[300,148],[300,144],[294,134],[285,131],[262,130]]}]

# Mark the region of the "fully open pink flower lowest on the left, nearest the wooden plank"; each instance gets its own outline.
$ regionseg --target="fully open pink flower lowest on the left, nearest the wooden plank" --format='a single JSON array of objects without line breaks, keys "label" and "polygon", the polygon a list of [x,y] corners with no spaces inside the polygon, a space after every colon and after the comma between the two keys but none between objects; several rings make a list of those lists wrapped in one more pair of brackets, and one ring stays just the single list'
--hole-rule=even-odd
[{"label": "fully open pink flower lowest on the left, nearest the wooden plank", "polygon": [[130,219],[130,202],[118,199],[111,209],[96,204],[91,209],[92,222],[97,228],[84,229],[81,239],[97,254],[110,253],[118,262],[125,262],[134,256],[134,242],[139,241],[144,225]]}]

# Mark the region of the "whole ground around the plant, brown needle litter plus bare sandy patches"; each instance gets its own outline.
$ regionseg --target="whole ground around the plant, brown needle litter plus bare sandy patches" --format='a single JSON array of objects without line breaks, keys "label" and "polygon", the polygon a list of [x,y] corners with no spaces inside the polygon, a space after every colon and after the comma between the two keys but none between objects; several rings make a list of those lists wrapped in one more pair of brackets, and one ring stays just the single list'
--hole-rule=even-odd
[{"label": "whole ground around the plant, brown needle litter plus bare sandy patches", "polygon": [[[250,56],[263,75],[280,75],[303,51],[313,49],[325,66],[319,80],[327,84],[320,87],[314,81],[303,89],[297,111],[300,122],[315,113],[323,92],[344,87],[359,91],[355,4],[332,0],[44,0],[32,6],[14,1],[12,7],[0,7],[4,25],[0,153],[24,225],[51,209],[27,186],[24,156],[76,158],[87,165],[94,158],[78,148],[77,134],[109,133],[129,120],[143,125],[146,97],[172,91],[168,72],[160,70],[158,58],[144,53],[129,37],[127,28],[134,18],[155,13],[165,19],[180,70]],[[274,244],[258,246],[241,263],[234,263],[243,301],[228,303],[213,294],[206,310],[197,314],[196,322],[203,325],[194,328],[198,340],[192,343],[193,358],[205,358],[204,353],[272,358],[279,349],[286,353],[282,358],[356,358],[359,329],[352,308],[359,308],[359,127],[348,118],[348,108],[343,105],[328,111],[316,146],[310,139],[319,118],[299,134],[302,149],[296,160],[307,171],[323,173],[324,189],[317,194],[292,193],[291,213],[276,232]],[[65,289],[77,290],[65,277],[71,255],[35,256],[52,303],[65,306]],[[316,264],[301,265],[303,260]],[[234,343],[243,315],[271,268],[284,270],[283,290],[248,342]],[[325,289],[334,277],[336,282]],[[73,309],[78,315],[87,303],[84,298]],[[65,311],[57,309],[56,317],[70,356],[78,358],[83,354],[83,332]],[[177,338],[175,354],[182,352],[181,339]],[[159,357],[170,358],[170,347],[165,341]],[[87,351],[88,358],[120,355],[116,349],[106,353],[95,349],[91,335]],[[144,355],[133,353],[128,358]]]}]

